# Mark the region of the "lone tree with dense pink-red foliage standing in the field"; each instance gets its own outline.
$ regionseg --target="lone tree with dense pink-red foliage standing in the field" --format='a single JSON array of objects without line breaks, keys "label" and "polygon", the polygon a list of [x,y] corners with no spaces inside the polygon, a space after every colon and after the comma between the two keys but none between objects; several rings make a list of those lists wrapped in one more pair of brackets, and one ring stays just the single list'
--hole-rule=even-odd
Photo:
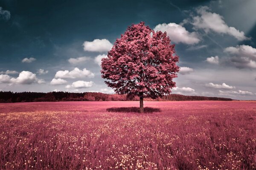
[{"label": "lone tree with dense pink-red foliage standing in the field", "polygon": [[179,57],[170,42],[166,32],[155,32],[144,22],[128,26],[102,59],[102,78],[117,94],[139,96],[143,113],[143,98],[156,99],[176,87],[172,79],[180,69]]}]

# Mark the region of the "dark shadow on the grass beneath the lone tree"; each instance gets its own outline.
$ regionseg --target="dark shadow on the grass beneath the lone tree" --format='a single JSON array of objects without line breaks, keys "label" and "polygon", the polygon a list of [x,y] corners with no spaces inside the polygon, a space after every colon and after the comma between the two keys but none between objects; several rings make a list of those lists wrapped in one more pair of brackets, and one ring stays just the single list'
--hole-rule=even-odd
[{"label": "dark shadow on the grass beneath the lone tree", "polygon": [[[137,107],[122,107],[122,108],[107,108],[108,112],[136,112],[140,113],[140,108]],[[160,112],[159,108],[145,107],[144,113]]]}]

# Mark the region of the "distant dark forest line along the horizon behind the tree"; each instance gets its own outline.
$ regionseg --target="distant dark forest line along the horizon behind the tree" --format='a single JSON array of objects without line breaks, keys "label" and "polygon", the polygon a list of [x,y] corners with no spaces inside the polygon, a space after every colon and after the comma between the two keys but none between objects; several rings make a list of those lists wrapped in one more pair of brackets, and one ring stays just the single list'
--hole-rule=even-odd
[{"label": "distant dark forest line along the horizon behind the tree", "polygon": [[[1,103],[13,102],[67,102],[67,101],[139,101],[139,97],[129,97],[121,94],[104,94],[96,92],[69,93],[69,92],[21,92],[0,91]],[[184,96],[170,94],[158,99],[145,98],[145,101],[192,101],[192,100],[223,100],[231,101],[230,98],[206,97],[206,96]]]}]

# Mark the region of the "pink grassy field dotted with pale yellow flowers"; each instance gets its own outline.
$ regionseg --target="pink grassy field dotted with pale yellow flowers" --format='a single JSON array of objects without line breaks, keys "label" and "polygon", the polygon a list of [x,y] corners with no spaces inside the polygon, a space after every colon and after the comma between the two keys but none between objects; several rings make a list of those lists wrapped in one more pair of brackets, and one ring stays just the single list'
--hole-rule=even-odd
[{"label": "pink grassy field dotted with pale yellow flowers", "polygon": [[0,104],[0,169],[256,169],[256,102]]}]

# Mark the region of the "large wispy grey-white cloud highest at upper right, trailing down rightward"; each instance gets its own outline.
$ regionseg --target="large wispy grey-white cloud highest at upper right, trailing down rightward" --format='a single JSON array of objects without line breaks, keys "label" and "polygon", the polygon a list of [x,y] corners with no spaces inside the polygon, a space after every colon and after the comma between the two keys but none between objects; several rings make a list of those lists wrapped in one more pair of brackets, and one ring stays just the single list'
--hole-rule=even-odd
[{"label": "large wispy grey-white cloud highest at upper right, trailing down rightward", "polygon": [[229,34],[240,41],[250,39],[244,35],[243,31],[227,26],[224,18],[219,14],[212,13],[209,7],[200,6],[196,12],[198,16],[193,16],[191,22],[195,30],[203,29],[206,33],[213,31],[219,34]]}]

